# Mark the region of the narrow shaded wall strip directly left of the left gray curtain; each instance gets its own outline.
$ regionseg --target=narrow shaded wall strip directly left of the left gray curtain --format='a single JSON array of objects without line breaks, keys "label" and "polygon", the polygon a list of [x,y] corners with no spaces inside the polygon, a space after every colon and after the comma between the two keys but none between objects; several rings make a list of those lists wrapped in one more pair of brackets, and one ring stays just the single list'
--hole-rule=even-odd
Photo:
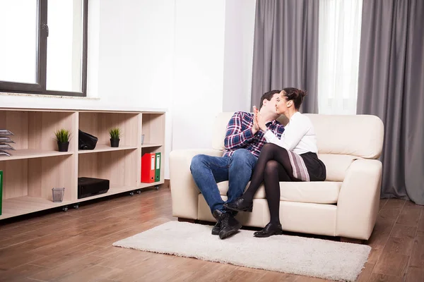
[{"label": "narrow shaded wall strip directly left of the left gray curtain", "polygon": [[252,111],[255,11],[256,0],[230,0],[225,3],[223,111]]}]

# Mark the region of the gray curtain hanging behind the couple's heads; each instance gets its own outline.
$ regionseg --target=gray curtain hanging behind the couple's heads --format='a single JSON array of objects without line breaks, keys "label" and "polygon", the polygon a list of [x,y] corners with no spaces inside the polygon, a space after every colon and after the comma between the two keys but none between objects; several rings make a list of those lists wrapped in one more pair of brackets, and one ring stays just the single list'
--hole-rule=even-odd
[{"label": "gray curtain hanging behind the couple's heads", "polygon": [[257,0],[251,104],[262,94],[296,87],[307,91],[304,113],[317,113],[319,1]]}]

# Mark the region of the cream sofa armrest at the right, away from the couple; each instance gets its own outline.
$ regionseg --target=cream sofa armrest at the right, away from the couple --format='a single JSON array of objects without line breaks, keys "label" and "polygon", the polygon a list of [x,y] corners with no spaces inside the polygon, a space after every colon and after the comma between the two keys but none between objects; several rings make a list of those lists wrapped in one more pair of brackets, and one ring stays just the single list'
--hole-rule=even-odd
[{"label": "cream sofa armrest at the right, away from the couple", "polygon": [[338,195],[336,235],[363,240],[370,238],[377,219],[381,180],[381,161],[353,161]]}]

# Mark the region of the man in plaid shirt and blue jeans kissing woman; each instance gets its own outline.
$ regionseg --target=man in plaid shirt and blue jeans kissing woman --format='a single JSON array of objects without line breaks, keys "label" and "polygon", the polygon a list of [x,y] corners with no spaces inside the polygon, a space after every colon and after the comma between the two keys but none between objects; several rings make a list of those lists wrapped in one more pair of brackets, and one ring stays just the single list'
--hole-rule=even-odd
[{"label": "man in plaid shirt and blue jeans kissing woman", "polygon": [[[276,113],[276,102],[280,92],[266,92],[262,95],[259,106],[259,114],[277,137],[281,137],[284,131],[283,125],[276,121],[279,116]],[[228,122],[224,143],[223,157],[198,154],[193,157],[190,166],[194,182],[217,220],[212,228],[212,235],[219,235],[220,239],[236,233],[242,225],[234,218],[236,212],[223,207],[225,202],[220,197],[216,183],[228,180],[226,202],[233,202],[240,197],[252,176],[259,152],[266,140],[254,121],[254,115],[237,111]]]}]

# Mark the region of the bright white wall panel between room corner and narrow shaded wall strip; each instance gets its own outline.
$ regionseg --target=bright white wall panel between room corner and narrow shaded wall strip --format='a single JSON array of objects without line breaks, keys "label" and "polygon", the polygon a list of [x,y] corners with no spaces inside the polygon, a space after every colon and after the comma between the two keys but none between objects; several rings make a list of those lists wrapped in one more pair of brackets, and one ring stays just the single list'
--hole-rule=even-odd
[{"label": "bright white wall panel between room corner and narrow shaded wall strip", "polygon": [[225,0],[177,0],[172,149],[210,148],[222,111]]}]

